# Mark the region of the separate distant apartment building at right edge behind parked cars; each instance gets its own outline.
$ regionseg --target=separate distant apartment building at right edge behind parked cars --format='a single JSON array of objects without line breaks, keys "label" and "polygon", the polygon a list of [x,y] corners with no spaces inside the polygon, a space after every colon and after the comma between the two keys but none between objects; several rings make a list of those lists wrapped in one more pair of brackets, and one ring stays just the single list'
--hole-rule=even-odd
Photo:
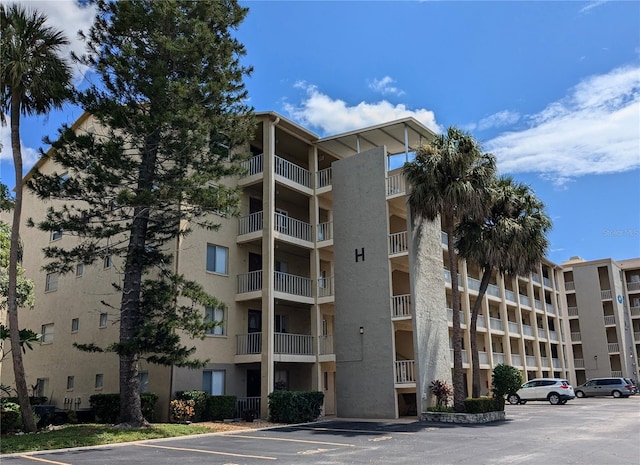
[{"label": "separate distant apartment building at right edge behind parked cars", "polygon": [[562,264],[575,378],[640,379],[640,258]]}]

